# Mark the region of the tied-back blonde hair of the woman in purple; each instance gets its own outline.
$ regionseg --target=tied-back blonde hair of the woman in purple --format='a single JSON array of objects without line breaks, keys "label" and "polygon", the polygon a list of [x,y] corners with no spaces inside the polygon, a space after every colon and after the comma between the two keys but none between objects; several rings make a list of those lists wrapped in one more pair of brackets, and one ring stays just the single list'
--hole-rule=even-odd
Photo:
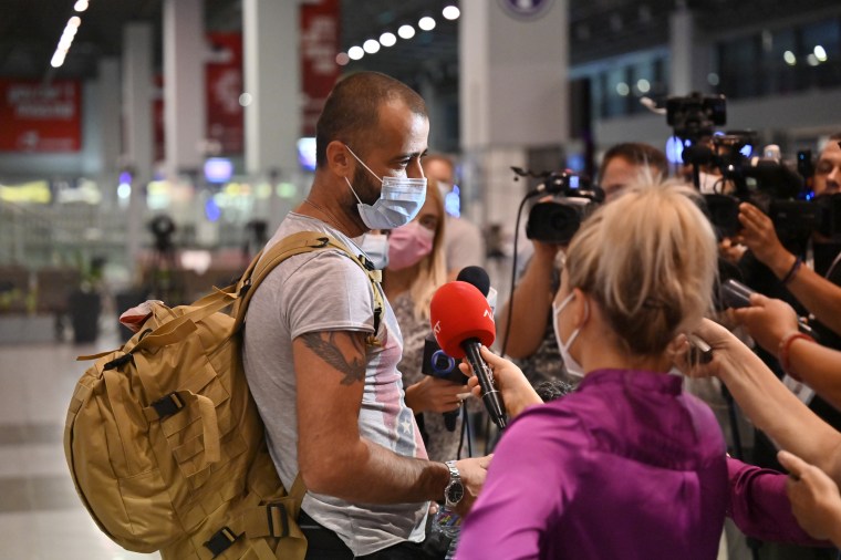
[{"label": "tied-back blonde hair of the woman in purple", "polygon": [[637,183],[599,208],[572,239],[570,289],[599,303],[632,354],[663,352],[712,309],[718,253],[699,200],[676,180]]}]

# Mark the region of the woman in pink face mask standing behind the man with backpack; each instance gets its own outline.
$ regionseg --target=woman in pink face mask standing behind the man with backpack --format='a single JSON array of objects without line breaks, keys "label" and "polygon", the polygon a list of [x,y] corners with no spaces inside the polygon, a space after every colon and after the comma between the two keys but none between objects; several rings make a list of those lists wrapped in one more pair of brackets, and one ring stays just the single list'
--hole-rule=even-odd
[{"label": "woman in pink face mask standing behind the man with backpack", "polygon": [[403,359],[397,369],[406,387],[406,404],[415,413],[432,460],[449,460],[458,452],[460,421],[448,431],[443,413],[455,413],[459,394],[469,393],[454,383],[420,373],[424,341],[430,333],[429,301],[447,280],[444,260],[444,200],[430,179],[423,208],[406,226],[388,235],[388,265],[383,271],[383,289],[392,303],[403,333]]}]

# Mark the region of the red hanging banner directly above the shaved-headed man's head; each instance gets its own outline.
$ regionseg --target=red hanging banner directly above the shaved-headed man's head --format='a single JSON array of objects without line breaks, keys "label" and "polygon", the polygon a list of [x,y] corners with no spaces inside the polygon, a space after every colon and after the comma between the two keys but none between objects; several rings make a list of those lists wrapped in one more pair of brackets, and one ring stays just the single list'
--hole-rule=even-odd
[{"label": "red hanging banner directly above the shaved-headed man's head", "polygon": [[339,0],[301,4],[301,89],[303,136],[315,136],[324,101],[339,79]]}]

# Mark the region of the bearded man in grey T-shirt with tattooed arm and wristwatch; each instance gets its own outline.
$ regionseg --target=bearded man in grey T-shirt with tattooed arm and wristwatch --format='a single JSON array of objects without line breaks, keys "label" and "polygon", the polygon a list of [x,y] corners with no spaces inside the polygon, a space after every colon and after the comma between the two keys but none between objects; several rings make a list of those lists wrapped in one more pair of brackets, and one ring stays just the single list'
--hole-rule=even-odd
[{"label": "bearded man in grey T-shirt with tattooed arm and wristwatch", "polygon": [[[352,74],[330,94],[316,125],[312,188],[267,247],[316,231],[354,238],[411,221],[424,204],[429,121],[420,96],[375,72]],[[403,338],[385,302],[375,311],[368,274],[325,250],[283,261],[259,286],[247,315],[248,382],[281,480],[300,473],[307,558],[424,558],[430,500],[460,485],[466,512],[488,459],[426,457],[397,363]],[[451,497],[455,497],[453,495]]]}]

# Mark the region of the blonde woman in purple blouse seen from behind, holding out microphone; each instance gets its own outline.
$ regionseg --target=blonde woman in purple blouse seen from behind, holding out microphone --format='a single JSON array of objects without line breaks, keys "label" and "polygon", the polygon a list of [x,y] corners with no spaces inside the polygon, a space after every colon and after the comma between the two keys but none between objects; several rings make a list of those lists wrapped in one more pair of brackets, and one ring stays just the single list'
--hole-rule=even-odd
[{"label": "blonde woman in purple blouse seen from behind, holding out microphone", "polygon": [[716,238],[696,199],[683,185],[629,187],[573,238],[552,318],[584,375],[574,393],[531,406],[522,373],[482,350],[517,418],[457,558],[715,559],[726,514],[754,536],[808,540],[785,476],[728,462],[712,411],[667,373],[669,343],[712,304]]}]

